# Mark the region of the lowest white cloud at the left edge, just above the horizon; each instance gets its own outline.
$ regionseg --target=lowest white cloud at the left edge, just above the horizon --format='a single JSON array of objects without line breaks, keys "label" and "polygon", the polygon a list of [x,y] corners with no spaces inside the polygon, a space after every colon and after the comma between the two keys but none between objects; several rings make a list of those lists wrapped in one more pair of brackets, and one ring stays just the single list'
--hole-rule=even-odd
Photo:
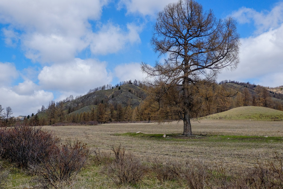
[{"label": "lowest white cloud at the left edge, just above the horizon", "polygon": [[[37,109],[40,109],[42,105],[48,104],[49,101],[53,100],[53,94],[51,92],[46,92],[44,90],[32,90],[29,87],[34,87],[34,84],[30,82],[19,84],[18,92],[12,88],[1,87],[0,88],[0,98],[2,107],[10,106],[13,110],[13,116],[28,115],[32,113],[37,113]],[[19,89],[22,88],[22,89]],[[24,90],[30,90],[25,91]]]}]

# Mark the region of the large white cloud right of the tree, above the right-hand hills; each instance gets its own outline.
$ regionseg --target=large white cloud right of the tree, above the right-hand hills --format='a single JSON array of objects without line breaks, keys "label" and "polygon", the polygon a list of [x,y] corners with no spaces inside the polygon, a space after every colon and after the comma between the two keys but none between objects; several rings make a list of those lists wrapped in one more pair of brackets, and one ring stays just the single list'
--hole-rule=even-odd
[{"label": "large white cloud right of the tree, above the right-hand hills", "polygon": [[[218,80],[251,81],[279,86],[283,84],[283,24],[256,37],[241,39],[240,64],[234,72],[223,72]],[[281,79],[280,79],[281,78]]]}]

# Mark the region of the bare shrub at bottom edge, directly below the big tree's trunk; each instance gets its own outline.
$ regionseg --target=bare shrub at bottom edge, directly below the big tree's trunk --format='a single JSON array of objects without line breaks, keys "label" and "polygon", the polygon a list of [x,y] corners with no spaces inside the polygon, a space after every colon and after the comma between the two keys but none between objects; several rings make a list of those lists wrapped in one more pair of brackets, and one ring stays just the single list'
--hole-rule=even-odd
[{"label": "bare shrub at bottom edge, directly below the big tree's trunk", "polygon": [[187,165],[184,171],[186,184],[188,184],[191,189],[205,188],[209,177],[208,168],[207,164],[199,161],[191,165]]}]

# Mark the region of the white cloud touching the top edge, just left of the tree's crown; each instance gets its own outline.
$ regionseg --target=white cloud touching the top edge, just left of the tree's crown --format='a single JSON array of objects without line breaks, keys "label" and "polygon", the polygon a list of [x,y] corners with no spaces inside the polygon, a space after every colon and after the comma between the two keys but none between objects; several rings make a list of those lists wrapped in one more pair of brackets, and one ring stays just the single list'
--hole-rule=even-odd
[{"label": "white cloud touching the top edge, just left of the tree's crown", "polygon": [[155,16],[157,12],[163,10],[165,5],[173,2],[174,0],[120,0],[118,9],[126,7],[127,14],[138,13],[143,16]]}]

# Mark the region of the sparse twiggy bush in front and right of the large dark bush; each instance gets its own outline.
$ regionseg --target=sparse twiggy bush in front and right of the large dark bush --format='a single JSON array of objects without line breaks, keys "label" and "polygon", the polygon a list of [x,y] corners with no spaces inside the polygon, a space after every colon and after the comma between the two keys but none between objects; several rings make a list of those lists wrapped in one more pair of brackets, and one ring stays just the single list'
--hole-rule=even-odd
[{"label": "sparse twiggy bush in front and right of the large dark bush", "polygon": [[89,155],[90,150],[85,143],[66,139],[42,162],[38,174],[52,186],[56,182],[70,181],[86,165]]}]

